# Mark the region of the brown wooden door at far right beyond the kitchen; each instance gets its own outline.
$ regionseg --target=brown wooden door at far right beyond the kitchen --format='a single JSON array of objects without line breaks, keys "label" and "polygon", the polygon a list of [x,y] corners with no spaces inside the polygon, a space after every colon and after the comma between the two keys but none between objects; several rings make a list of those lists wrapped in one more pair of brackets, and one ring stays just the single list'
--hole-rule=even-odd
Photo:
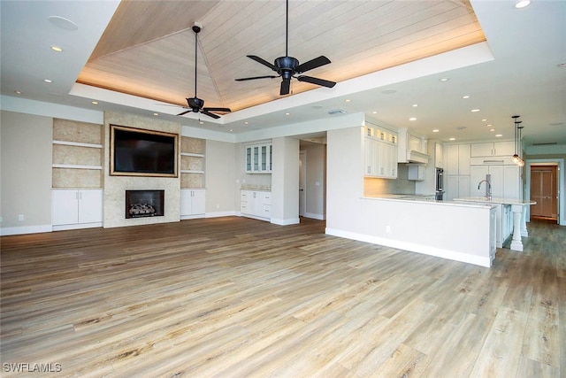
[{"label": "brown wooden door at far right beyond the kitchen", "polygon": [[558,166],[531,166],[531,216],[558,220]]}]

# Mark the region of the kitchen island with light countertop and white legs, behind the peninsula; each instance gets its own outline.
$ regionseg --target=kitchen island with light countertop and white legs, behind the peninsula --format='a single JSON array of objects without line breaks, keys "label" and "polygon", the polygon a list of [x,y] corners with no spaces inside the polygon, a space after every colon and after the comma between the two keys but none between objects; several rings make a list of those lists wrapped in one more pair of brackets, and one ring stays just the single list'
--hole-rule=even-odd
[{"label": "kitchen island with light countertop and white legs, behind the peninsula", "polygon": [[[522,236],[528,237],[526,226],[527,206],[536,204],[534,201],[522,201],[508,198],[486,198],[486,197],[464,197],[455,198],[455,202],[466,204],[495,204],[497,205],[497,246],[502,248],[509,234],[512,232],[513,239],[509,249],[512,251],[523,251]],[[512,220],[509,215],[512,214]],[[501,241],[501,245],[500,245]]]}]

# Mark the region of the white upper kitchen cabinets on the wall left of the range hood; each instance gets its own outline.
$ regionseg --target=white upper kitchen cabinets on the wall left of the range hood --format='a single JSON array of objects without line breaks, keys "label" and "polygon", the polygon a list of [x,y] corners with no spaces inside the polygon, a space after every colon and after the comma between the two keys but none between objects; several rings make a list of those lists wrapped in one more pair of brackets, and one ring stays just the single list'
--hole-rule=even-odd
[{"label": "white upper kitchen cabinets on the wall left of the range hood", "polygon": [[385,128],[364,128],[366,177],[397,178],[397,134]]}]

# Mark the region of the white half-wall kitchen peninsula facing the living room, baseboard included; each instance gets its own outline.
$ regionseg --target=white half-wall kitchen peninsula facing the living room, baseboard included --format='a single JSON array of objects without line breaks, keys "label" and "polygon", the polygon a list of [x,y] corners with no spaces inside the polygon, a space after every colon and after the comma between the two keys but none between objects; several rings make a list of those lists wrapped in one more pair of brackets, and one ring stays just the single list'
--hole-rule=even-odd
[{"label": "white half-wall kitchen peninsula facing the living room, baseboard included", "polygon": [[326,234],[404,251],[492,266],[495,258],[493,204],[436,201],[430,196],[361,197],[348,204],[356,214],[327,223]]}]

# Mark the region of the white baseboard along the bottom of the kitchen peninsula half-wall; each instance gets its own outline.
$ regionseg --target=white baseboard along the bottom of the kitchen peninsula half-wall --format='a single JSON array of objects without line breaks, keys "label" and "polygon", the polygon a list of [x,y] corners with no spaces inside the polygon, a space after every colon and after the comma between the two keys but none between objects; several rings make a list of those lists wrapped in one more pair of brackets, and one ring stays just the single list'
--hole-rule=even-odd
[{"label": "white baseboard along the bottom of the kitchen peninsula half-wall", "polygon": [[326,228],[325,234],[339,236],[346,239],[357,240],[365,243],[383,245],[386,247],[391,247],[402,251],[422,253],[424,255],[434,256],[437,258],[447,258],[449,260],[460,261],[463,263],[468,263],[478,266],[486,266],[486,267],[492,266],[492,261],[489,256],[486,257],[472,256],[466,253],[447,251],[429,245],[400,242],[398,240],[386,239],[383,237],[372,236],[372,235],[358,234],[358,233],[342,231],[334,228]]}]

